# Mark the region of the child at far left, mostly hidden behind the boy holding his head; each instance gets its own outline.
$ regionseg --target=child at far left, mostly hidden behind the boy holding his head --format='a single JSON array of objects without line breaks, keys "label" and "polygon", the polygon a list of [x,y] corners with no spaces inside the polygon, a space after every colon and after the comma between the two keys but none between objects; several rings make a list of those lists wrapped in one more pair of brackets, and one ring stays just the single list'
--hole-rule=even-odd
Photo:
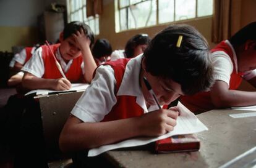
[{"label": "child at far left, mostly hidden behind the boy holding his head", "polygon": [[20,70],[22,69],[23,65],[28,62],[30,57],[32,57],[33,53],[38,47],[40,47],[40,44],[36,44],[34,47],[25,47],[19,53],[14,55],[9,66],[11,70],[19,71],[19,73],[11,76],[11,78],[7,81],[8,86],[17,86],[22,82],[24,73]]}]

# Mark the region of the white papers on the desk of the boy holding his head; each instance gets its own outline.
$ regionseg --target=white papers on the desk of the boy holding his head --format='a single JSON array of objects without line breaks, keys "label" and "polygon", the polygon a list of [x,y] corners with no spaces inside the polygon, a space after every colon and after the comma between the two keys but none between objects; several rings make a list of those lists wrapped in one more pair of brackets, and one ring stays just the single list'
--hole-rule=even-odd
[{"label": "white papers on the desk of the boy holding his head", "polygon": [[30,92],[27,92],[26,95],[30,94],[36,94],[36,95],[48,95],[49,93],[64,93],[64,92],[71,92],[71,91],[80,91],[80,90],[85,90],[89,84],[84,84],[84,83],[77,83],[77,84],[72,84],[71,89],[69,90],[48,90],[48,89],[37,89],[37,90],[31,90]]}]

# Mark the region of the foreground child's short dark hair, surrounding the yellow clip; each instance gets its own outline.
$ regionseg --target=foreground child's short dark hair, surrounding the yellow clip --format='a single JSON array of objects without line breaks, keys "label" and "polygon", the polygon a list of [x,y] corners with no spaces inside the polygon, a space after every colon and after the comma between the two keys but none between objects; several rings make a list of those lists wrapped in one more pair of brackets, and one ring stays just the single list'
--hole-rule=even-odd
[{"label": "foreground child's short dark hair, surrounding the yellow clip", "polygon": [[[177,47],[179,36],[182,41]],[[213,84],[213,63],[207,41],[192,26],[168,26],[156,34],[143,57],[146,71],[181,84],[186,95],[210,89]]]}]

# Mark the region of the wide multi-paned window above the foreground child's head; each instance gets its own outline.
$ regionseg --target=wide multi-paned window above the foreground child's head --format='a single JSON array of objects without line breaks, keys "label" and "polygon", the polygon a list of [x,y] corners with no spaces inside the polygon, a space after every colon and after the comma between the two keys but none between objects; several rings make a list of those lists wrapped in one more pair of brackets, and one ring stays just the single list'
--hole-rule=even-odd
[{"label": "wide multi-paned window above the foreground child's head", "polygon": [[213,14],[213,0],[116,0],[116,31]]}]

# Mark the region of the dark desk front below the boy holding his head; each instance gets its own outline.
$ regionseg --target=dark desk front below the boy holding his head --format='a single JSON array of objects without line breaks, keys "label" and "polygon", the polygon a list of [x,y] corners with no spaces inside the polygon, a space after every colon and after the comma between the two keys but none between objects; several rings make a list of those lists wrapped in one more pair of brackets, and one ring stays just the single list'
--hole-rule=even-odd
[{"label": "dark desk front below the boy holding his head", "polygon": [[82,94],[83,92],[64,92],[38,98],[47,150],[59,151],[59,134]]}]

